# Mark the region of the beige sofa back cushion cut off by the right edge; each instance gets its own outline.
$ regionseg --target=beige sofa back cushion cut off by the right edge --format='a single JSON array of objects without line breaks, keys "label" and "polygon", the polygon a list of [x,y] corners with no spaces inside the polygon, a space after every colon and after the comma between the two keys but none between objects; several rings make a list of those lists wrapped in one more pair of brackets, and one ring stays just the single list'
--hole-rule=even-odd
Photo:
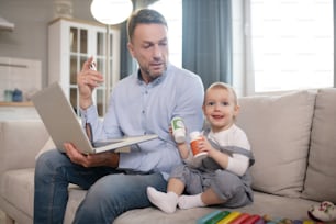
[{"label": "beige sofa back cushion cut off by the right edge", "polygon": [[336,89],[316,97],[303,197],[336,203]]}]

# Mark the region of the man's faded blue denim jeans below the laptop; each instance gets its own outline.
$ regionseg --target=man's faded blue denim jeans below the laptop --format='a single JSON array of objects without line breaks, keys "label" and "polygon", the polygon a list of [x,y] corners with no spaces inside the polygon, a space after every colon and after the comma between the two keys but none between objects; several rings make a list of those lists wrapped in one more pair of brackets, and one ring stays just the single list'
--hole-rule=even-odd
[{"label": "man's faded blue denim jeans below the laptop", "polygon": [[160,173],[125,175],[109,167],[85,168],[74,165],[59,150],[40,156],[35,168],[34,223],[61,224],[68,201],[68,184],[89,189],[74,223],[107,223],[125,211],[150,205],[146,188],[166,191]]}]

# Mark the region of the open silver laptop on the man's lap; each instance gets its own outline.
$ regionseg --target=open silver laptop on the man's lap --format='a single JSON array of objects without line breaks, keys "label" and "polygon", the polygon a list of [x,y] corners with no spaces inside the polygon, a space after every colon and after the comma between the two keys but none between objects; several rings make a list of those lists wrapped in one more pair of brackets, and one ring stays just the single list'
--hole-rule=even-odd
[{"label": "open silver laptop on the man's lap", "polygon": [[90,126],[82,128],[58,82],[36,92],[32,101],[56,147],[61,150],[65,150],[64,143],[72,143],[83,154],[119,149],[123,152],[121,148],[158,137],[156,134],[148,134],[93,143]]}]

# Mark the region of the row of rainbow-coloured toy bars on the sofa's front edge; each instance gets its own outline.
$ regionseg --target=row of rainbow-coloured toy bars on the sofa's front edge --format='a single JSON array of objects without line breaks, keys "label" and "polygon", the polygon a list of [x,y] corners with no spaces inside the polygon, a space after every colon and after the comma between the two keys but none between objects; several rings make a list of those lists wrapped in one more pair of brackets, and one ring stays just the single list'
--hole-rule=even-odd
[{"label": "row of rainbow-coloured toy bars on the sofa's front edge", "polygon": [[269,215],[248,214],[238,211],[211,212],[197,221],[197,224],[322,224],[312,220],[275,219]]}]

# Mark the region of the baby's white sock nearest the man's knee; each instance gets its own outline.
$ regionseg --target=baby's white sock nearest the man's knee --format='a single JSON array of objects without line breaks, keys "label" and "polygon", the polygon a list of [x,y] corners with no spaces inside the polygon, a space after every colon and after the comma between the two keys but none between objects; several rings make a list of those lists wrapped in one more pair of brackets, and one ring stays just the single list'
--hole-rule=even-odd
[{"label": "baby's white sock nearest the man's knee", "polygon": [[155,188],[147,187],[147,197],[149,201],[166,213],[173,213],[178,203],[178,194],[170,191],[164,193],[157,191]]}]

